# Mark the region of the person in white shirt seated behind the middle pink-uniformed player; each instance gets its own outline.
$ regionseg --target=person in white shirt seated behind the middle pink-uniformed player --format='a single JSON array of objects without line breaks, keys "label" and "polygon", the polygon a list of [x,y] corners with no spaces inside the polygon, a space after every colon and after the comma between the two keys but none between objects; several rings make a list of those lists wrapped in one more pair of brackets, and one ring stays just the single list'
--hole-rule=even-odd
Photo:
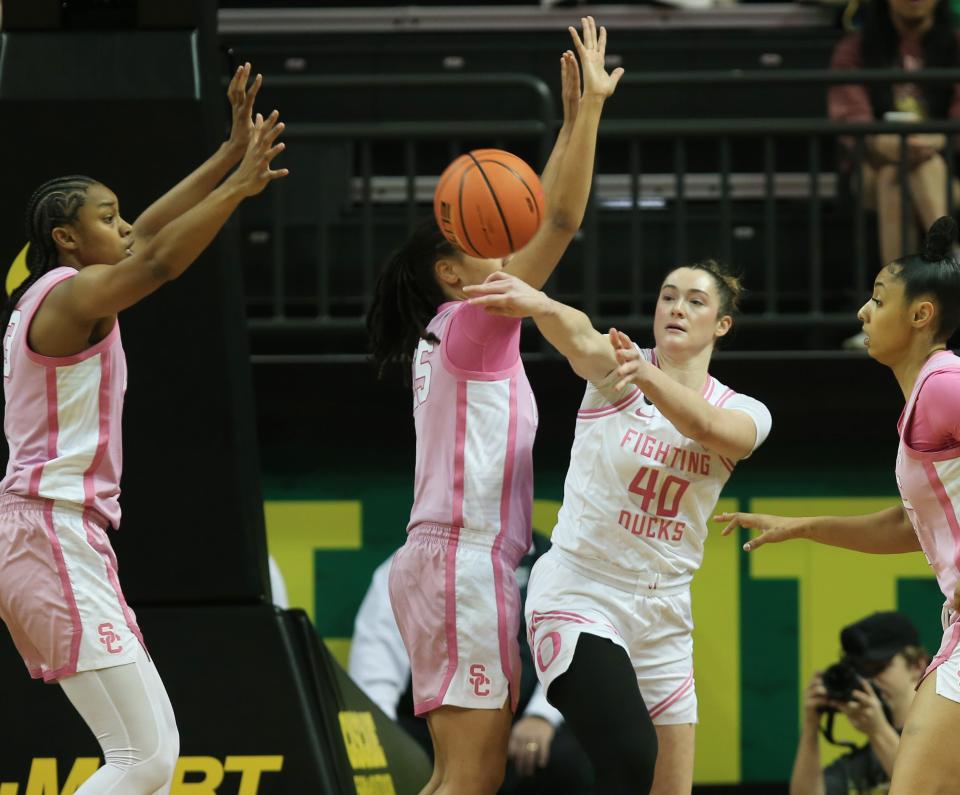
[{"label": "person in white shirt seated behind the middle pink-uniformed player", "polygon": [[[526,600],[530,569],[548,547],[549,542],[543,536],[533,534],[533,546],[516,571],[521,604]],[[387,578],[392,561],[393,555],[374,571],[357,611],[348,670],[363,692],[432,757],[433,744],[426,721],[413,714],[410,660],[390,607]],[[533,670],[525,633],[526,625],[521,617],[520,701],[510,732],[507,773],[500,793],[592,793],[590,762],[573,733],[564,726],[563,716],[547,702]]]}]

